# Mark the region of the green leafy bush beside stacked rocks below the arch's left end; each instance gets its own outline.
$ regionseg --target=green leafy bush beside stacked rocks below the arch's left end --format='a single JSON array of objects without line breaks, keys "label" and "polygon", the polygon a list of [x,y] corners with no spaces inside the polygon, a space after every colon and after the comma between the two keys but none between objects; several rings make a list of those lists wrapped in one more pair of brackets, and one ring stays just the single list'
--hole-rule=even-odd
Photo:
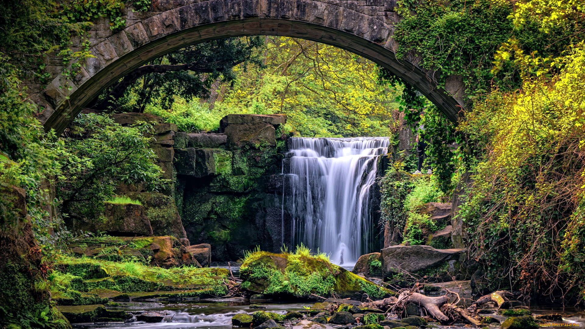
[{"label": "green leafy bush beside stacked rocks below the arch's left end", "polygon": [[61,173],[57,197],[65,215],[93,217],[104,209],[119,183],[146,184],[156,190],[165,181],[149,148],[149,124],[121,126],[109,116],[81,114],[60,140]]}]

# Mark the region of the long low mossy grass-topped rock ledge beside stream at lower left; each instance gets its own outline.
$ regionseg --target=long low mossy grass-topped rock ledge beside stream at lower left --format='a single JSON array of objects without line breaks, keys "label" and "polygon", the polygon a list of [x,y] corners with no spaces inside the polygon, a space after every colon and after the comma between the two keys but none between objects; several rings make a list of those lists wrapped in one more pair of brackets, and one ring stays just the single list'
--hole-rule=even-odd
[{"label": "long low mossy grass-topped rock ledge beside stream at lower left", "polygon": [[61,305],[107,303],[105,292],[172,292],[197,290],[222,296],[227,270],[181,266],[164,269],[137,262],[61,256],[49,275],[51,295]]}]

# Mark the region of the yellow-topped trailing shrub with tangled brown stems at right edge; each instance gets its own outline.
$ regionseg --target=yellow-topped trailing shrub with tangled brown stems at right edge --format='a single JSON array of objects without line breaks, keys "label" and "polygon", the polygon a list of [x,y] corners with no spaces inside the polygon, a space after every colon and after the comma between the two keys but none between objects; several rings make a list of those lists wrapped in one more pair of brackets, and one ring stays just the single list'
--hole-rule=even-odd
[{"label": "yellow-topped trailing shrub with tangled brown stems at right edge", "polygon": [[511,282],[524,296],[584,296],[583,46],[566,59],[552,81],[530,78],[514,94],[492,92],[459,128],[485,152],[459,210],[470,251],[488,282]]}]

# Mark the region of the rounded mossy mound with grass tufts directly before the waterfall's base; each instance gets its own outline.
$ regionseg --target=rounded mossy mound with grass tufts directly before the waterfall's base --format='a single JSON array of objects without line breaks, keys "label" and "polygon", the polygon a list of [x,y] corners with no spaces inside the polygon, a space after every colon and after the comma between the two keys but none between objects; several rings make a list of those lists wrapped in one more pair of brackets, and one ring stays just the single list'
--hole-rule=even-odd
[{"label": "rounded mossy mound with grass tufts directly before the waterfall's base", "polygon": [[341,298],[381,299],[394,294],[338,265],[324,255],[311,255],[307,249],[295,253],[257,251],[246,255],[240,277],[242,288],[273,297],[309,297],[311,294]]}]

